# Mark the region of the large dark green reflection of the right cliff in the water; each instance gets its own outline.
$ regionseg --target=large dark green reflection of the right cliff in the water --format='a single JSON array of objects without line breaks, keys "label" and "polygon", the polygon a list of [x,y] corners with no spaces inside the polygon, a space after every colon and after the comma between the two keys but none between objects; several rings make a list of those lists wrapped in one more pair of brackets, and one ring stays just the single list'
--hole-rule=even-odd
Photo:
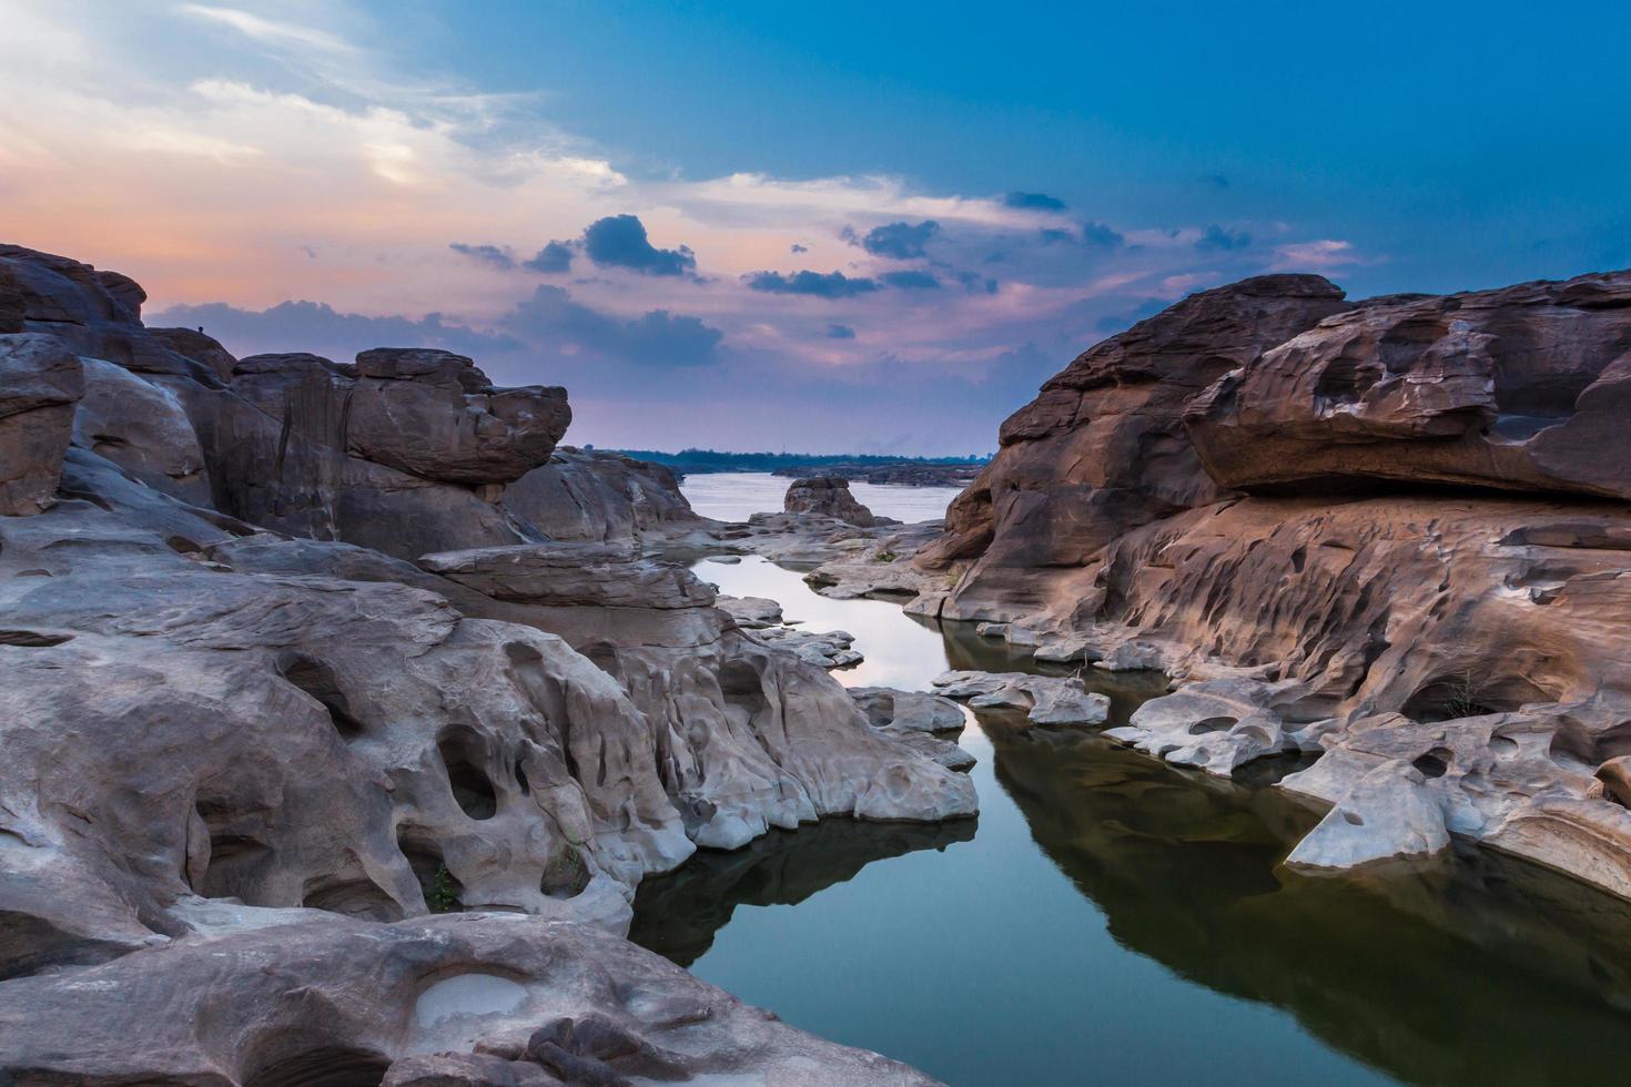
[{"label": "large dark green reflection of the right cliff in the water", "polygon": [[1623,903],[1487,852],[1300,877],[1279,862],[1315,816],[1272,789],[985,725],[1037,846],[1119,944],[1181,978],[1284,1007],[1406,1082],[1618,1082],[1631,1066]]}]

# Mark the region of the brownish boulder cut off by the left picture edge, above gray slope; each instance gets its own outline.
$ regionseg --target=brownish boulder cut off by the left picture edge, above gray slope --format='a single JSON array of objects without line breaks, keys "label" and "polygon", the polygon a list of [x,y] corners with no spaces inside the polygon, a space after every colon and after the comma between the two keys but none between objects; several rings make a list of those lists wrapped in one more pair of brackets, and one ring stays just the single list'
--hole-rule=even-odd
[{"label": "brownish boulder cut off by the left picture edge, above gray slope", "polygon": [[55,500],[83,393],[80,360],[60,342],[0,334],[0,515],[38,513]]}]

